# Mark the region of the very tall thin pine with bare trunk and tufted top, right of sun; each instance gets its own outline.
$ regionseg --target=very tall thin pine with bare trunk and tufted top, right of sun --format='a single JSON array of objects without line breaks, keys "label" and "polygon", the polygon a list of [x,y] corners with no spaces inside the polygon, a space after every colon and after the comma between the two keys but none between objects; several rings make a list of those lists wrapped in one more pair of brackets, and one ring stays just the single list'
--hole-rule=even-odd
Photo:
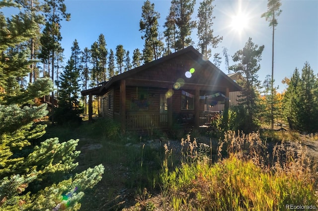
[{"label": "very tall thin pine with bare trunk and tufted top, right of sun", "polygon": [[[272,27],[272,84],[271,90],[274,91],[274,32],[275,27],[277,26],[277,17],[280,15],[282,10],[279,8],[281,6],[280,0],[268,0],[267,2],[267,11],[264,12],[261,17],[265,17],[266,21],[269,22],[269,26]],[[271,93],[271,96],[274,96],[274,93]],[[271,129],[274,128],[274,102],[272,99],[271,102]]]}]

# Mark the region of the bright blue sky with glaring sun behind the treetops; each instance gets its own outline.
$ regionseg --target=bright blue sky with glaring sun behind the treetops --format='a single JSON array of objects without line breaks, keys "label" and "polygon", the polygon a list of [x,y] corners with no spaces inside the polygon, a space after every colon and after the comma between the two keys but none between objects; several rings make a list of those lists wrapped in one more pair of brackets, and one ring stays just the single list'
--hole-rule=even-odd
[{"label": "bright blue sky with glaring sun behind the treetops", "polygon": [[[163,32],[163,23],[168,14],[170,0],[151,0],[155,10],[160,13],[159,32]],[[199,7],[197,0],[193,19],[197,16]],[[62,23],[62,47],[65,49],[65,62],[69,59],[72,43],[75,39],[83,50],[90,48],[97,41],[99,34],[104,34],[108,51],[115,52],[117,45],[123,45],[130,51],[139,48],[144,41],[139,31],[142,5],[144,0],[65,0],[67,11],[71,13],[71,21]],[[314,72],[318,73],[318,0],[282,0],[282,13],[278,17],[275,30],[274,79],[279,91],[285,86],[281,84],[284,77],[290,77],[295,68],[300,70],[308,61]],[[222,47],[228,49],[232,56],[242,49],[248,37],[257,45],[264,45],[259,79],[263,81],[271,74],[272,33],[271,28],[261,14],[267,10],[267,0],[215,0],[214,1],[214,33],[223,36],[219,48],[213,53],[221,53]],[[237,13],[245,14],[248,26],[241,32],[231,26],[232,17]],[[196,31],[192,40],[198,42]],[[222,55],[223,57],[223,55]],[[211,58],[212,59],[212,58]],[[234,64],[230,59],[230,65]],[[225,61],[222,58],[221,70],[227,73]]]}]

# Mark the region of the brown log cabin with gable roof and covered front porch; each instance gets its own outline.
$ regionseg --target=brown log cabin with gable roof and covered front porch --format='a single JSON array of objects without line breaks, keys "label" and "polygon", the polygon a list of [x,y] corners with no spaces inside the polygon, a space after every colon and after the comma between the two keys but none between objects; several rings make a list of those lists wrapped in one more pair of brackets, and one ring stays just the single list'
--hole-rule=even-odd
[{"label": "brown log cabin with gable roof and covered front porch", "polygon": [[89,119],[92,95],[102,96],[100,114],[118,120],[125,131],[168,129],[176,121],[199,127],[211,119],[204,113],[205,96],[223,96],[228,102],[229,93],[239,90],[225,73],[188,47],[81,93],[89,96]]}]

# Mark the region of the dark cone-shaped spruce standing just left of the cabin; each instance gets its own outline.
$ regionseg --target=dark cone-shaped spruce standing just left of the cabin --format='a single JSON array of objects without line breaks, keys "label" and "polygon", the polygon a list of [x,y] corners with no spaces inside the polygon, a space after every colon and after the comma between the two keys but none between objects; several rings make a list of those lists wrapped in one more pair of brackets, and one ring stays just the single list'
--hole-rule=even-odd
[{"label": "dark cone-shaped spruce standing just left of the cabin", "polygon": [[56,108],[55,115],[59,124],[81,121],[79,117],[82,112],[82,108],[79,105],[79,68],[76,67],[74,58],[72,55],[60,76],[59,107]]}]

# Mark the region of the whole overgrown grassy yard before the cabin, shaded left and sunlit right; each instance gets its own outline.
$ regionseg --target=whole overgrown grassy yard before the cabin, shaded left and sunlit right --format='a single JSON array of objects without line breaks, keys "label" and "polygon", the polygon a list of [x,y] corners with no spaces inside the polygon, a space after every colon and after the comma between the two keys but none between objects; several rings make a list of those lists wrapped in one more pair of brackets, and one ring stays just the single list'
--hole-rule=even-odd
[{"label": "whole overgrown grassy yard before the cabin, shaded left and sunlit right", "polygon": [[98,185],[85,192],[81,210],[281,210],[286,204],[317,206],[315,163],[309,157],[310,149],[299,144],[299,140],[314,142],[315,135],[231,131],[210,143],[209,137],[203,139],[204,131],[193,130],[181,140],[170,138],[153,147],[152,140],[160,137],[133,132],[120,135],[119,128],[106,119],[84,121],[76,127],[48,126],[45,136],[79,138],[81,156],[76,170],[96,163],[105,166]]}]

